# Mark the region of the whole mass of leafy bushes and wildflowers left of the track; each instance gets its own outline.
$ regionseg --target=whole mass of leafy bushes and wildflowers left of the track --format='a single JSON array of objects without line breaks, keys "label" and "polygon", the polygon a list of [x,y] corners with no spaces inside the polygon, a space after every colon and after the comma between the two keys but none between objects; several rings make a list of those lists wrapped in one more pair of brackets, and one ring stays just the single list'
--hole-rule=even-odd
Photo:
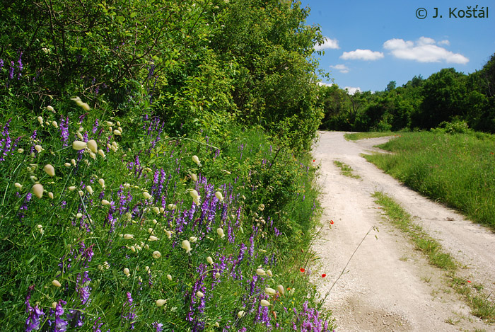
[{"label": "whole mass of leafy bushes and wildflowers left of the track", "polygon": [[332,329],[307,272],[307,8],[1,6],[2,328]]}]

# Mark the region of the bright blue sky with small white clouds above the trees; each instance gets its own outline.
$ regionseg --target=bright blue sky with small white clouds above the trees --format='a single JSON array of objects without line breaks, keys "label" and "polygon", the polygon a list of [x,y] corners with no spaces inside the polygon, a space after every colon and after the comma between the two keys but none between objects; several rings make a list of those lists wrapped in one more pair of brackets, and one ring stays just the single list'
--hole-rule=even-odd
[{"label": "bright blue sky with small white clouds above the trees", "polygon": [[[320,46],[325,51],[320,68],[330,71],[333,83],[349,91],[383,91],[390,81],[402,86],[414,76],[426,79],[442,68],[469,74],[495,53],[493,0],[301,2],[311,9],[306,23],[320,25],[327,38]],[[450,11],[462,16],[460,10],[476,5],[476,16],[480,10],[487,16],[488,8],[488,18],[449,18]],[[435,7],[437,18],[433,18]],[[426,18],[417,18],[418,8],[426,9],[419,11],[419,15],[427,13]]]}]

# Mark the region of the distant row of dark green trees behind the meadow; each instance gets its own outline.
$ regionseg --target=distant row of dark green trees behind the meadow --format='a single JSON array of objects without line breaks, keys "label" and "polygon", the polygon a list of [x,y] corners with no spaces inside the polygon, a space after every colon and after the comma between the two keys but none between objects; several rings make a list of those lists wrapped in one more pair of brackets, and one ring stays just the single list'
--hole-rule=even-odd
[{"label": "distant row of dark green trees behind the meadow", "polygon": [[320,88],[325,116],[321,129],[354,131],[429,130],[449,122],[495,132],[495,54],[479,71],[441,69],[428,79],[414,76],[403,86],[390,81],[384,91]]}]

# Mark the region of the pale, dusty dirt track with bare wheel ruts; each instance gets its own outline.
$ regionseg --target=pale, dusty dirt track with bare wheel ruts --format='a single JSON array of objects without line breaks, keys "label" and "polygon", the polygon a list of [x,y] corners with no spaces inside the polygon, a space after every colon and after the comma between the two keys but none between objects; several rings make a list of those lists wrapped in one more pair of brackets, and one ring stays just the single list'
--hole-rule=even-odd
[{"label": "pale, dusty dirt track with bare wheel ruts", "polygon": [[[327,297],[325,305],[333,311],[337,331],[495,331],[495,325],[470,314],[448,287],[443,271],[426,263],[404,234],[383,221],[371,194],[380,191],[400,203],[415,223],[466,266],[458,275],[484,285],[487,293],[495,290],[495,234],[409,190],[360,156],[378,151],[373,145],[386,140],[348,142],[343,132],[320,132],[313,150],[321,167],[322,221],[334,221],[331,229],[323,227],[313,246],[321,258],[319,270],[313,271],[320,293],[330,290],[369,229],[376,226],[380,231],[366,237]],[[349,164],[361,179],[340,174],[334,160]]]}]

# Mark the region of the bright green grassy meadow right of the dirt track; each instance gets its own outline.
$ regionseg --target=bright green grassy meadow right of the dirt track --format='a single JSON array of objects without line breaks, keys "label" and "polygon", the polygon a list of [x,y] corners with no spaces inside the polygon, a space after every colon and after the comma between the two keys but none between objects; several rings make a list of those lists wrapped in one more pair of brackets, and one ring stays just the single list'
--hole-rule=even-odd
[{"label": "bright green grassy meadow right of the dirt track", "polygon": [[366,159],[419,193],[495,229],[495,138],[407,132]]}]

